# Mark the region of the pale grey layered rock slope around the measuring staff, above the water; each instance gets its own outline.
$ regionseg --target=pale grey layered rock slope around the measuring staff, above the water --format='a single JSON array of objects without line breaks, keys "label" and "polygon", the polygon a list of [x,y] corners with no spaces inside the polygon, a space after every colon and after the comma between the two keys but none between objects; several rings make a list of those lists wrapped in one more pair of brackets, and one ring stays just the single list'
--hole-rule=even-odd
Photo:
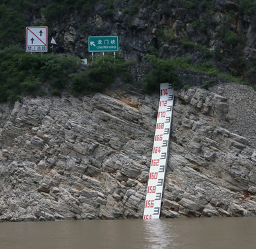
[{"label": "pale grey layered rock slope around the measuring staff, above the water", "polygon": [[[256,92],[226,83],[175,97],[161,216],[255,215]],[[158,100],[106,91],[1,104],[0,220],[142,218]]]}]

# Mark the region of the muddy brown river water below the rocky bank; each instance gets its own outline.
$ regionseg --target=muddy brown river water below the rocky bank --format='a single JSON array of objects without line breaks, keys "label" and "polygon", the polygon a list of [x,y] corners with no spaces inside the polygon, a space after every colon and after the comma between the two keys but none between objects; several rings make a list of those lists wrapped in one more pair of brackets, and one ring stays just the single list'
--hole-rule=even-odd
[{"label": "muddy brown river water below the rocky bank", "polygon": [[0,223],[2,249],[255,249],[256,217]]}]

